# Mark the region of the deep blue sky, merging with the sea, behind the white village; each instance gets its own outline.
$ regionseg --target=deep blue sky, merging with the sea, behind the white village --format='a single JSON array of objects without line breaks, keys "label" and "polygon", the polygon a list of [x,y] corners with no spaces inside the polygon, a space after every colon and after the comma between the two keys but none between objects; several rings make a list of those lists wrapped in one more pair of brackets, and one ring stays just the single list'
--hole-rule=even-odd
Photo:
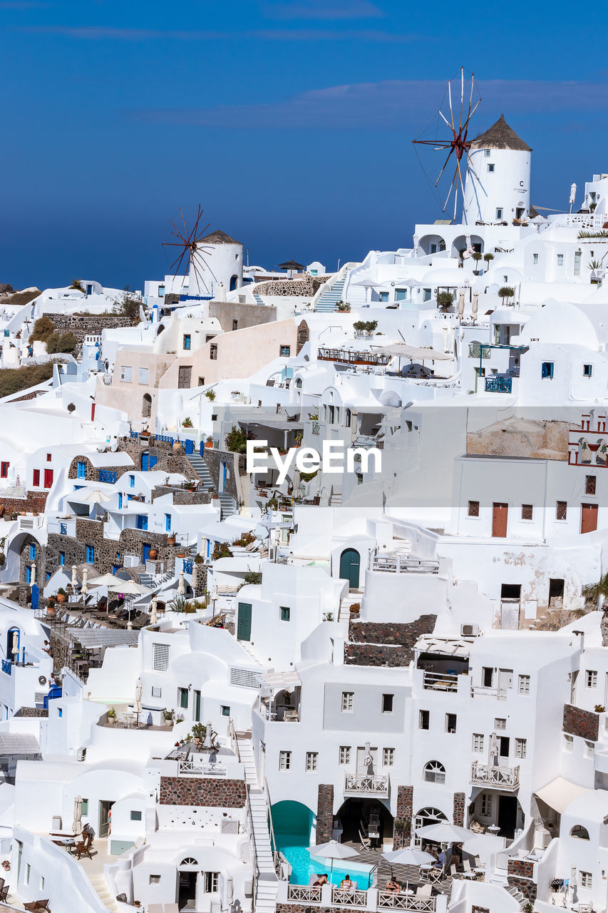
[{"label": "deep blue sky, merging with the sea, behind the white village", "polygon": [[267,267],[411,246],[442,215],[411,140],[461,66],[474,132],[504,113],[532,146],[533,203],[608,170],[603,58],[563,0],[0,0],[0,28],[16,288],[140,289],[199,203]]}]

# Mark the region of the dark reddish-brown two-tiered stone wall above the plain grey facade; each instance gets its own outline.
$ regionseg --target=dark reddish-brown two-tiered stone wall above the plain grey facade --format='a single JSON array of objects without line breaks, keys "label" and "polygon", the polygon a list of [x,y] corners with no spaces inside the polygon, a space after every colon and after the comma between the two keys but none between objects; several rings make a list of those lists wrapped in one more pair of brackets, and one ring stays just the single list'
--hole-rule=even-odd
[{"label": "dark reddish-brown two-tiered stone wall above the plain grey facade", "polygon": [[423,634],[431,634],[436,615],[421,615],[408,624],[352,622],[349,642],[344,645],[347,666],[409,666],[414,644]]}]

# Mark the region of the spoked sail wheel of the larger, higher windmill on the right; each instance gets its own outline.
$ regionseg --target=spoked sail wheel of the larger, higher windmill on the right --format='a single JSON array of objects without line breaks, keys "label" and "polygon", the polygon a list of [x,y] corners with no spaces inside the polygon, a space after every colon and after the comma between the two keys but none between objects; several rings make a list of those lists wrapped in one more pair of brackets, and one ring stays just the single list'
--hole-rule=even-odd
[{"label": "spoked sail wheel of the larger, higher windmill on the right", "polygon": [[[466,166],[465,173],[466,169],[468,169],[471,176],[479,181],[471,163],[471,156],[468,152],[471,142],[467,139],[471,118],[481,102],[481,98],[474,100],[476,91],[475,75],[473,73],[465,75],[465,69],[461,68],[459,77],[447,80],[446,94],[444,95],[441,106],[437,110],[437,117],[431,124],[431,126],[435,126],[435,138],[426,139],[421,137],[412,141],[414,142],[414,145],[431,146],[435,152],[447,152],[446,161],[439,172],[439,177],[435,181],[435,187],[439,184],[439,181],[446,170],[446,177],[449,177],[450,173],[452,173],[452,168],[454,168],[452,182],[449,191],[447,192],[446,203],[444,204],[442,212],[446,212],[447,204],[449,203],[452,191],[454,191],[455,221],[456,209],[458,206],[458,189],[460,189],[462,193],[463,203],[465,200],[465,184],[460,167],[460,163],[463,159],[465,160],[464,165]],[[460,100],[458,100],[458,95],[460,96]],[[448,134],[447,136],[446,131]],[[443,137],[438,135],[440,132],[443,134]],[[450,166],[449,168],[448,165]]]}]

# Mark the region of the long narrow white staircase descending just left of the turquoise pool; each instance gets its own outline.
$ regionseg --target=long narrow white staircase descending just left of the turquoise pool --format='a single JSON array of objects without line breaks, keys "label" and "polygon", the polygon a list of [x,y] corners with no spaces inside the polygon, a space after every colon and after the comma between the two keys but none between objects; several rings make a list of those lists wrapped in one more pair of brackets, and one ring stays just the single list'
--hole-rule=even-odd
[{"label": "long narrow white staircase descending just left of the turquoise pool", "polygon": [[239,757],[245,767],[245,782],[253,825],[253,846],[257,860],[256,913],[275,913],[278,878],[270,845],[270,834],[268,834],[266,791],[259,785],[251,733],[237,732],[236,743]]}]

